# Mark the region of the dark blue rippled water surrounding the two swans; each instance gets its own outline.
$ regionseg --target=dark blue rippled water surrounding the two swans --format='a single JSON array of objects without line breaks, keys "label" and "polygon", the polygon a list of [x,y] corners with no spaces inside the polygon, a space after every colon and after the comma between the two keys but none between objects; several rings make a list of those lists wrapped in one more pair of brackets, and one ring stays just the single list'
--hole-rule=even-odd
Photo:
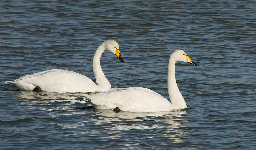
[{"label": "dark blue rippled water surrounding the two swans", "polygon": [[[5,81],[66,69],[165,98],[169,55],[188,108],[131,113],[74,107],[80,93],[15,91]],[[255,149],[255,1],[1,1],[1,149]]]}]

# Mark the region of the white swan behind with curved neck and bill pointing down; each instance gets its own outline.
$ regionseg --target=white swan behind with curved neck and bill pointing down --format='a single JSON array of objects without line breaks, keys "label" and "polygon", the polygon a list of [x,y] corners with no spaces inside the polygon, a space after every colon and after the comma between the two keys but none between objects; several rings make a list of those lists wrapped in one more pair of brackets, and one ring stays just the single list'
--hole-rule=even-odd
[{"label": "white swan behind with curved neck and bill pointing down", "polygon": [[6,81],[5,83],[13,84],[20,88],[20,90],[43,90],[58,93],[106,91],[111,88],[111,85],[100,66],[100,57],[104,50],[109,50],[114,53],[121,62],[124,62],[120,54],[119,45],[116,41],[107,40],[103,42],[97,48],[93,56],[93,72],[98,85],[84,75],[61,69],[33,73],[14,81]]}]

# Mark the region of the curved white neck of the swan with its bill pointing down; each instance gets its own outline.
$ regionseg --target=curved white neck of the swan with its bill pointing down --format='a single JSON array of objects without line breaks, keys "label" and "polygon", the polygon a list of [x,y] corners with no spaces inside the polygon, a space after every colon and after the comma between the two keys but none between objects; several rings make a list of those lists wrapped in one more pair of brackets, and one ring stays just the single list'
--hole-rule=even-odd
[{"label": "curved white neck of the swan with its bill pointing down", "polygon": [[109,83],[108,79],[104,75],[101,66],[100,66],[100,57],[102,53],[106,50],[104,43],[102,43],[94,53],[93,56],[93,72],[98,83],[99,90],[105,91],[111,88],[111,84]]}]

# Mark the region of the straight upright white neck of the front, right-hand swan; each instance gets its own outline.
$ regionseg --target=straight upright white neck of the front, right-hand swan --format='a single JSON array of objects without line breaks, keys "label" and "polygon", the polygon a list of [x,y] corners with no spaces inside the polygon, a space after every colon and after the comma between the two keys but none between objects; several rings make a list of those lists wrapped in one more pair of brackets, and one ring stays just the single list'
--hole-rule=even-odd
[{"label": "straight upright white neck of the front, right-hand swan", "polygon": [[168,94],[173,106],[177,108],[186,108],[186,102],[179,91],[179,88],[176,83],[175,78],[175,63],[176,61],[173,59],[174,56],[170,56],[168,63],[168,73],[167,73],[167,88]]}]

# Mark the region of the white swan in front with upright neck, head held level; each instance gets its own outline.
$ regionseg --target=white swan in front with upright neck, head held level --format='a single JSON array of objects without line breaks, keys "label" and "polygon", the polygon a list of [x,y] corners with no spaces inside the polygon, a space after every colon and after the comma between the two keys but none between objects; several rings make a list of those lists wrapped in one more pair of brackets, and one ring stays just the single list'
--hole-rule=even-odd
[{"label": "white swan in front with upright neck, head held level", "polygon": [[142,87],[110,89],[92,95],[81,94],[97,109],[115,111],[158,112],[186,108],[186,102],[178,89],[175,79],[175,63],[188,62],[197,66],[183,50],[176,50],[169,58],[167,88],[171,103],[158,93]]}]

